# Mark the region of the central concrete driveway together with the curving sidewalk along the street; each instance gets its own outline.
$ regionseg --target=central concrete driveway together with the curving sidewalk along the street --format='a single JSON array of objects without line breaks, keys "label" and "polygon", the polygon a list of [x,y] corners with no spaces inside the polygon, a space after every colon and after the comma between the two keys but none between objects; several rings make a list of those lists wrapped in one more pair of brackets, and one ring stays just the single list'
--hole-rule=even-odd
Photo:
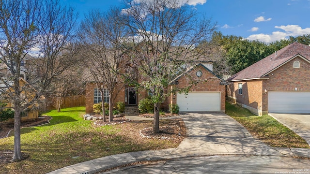
[{"label": "central concrete driveway together with the curving sidewalk along the street", "polygon": [[184,113],[187,137],[177,148],[129,152],[67,166],[48,174],[93,174],[139,161],[171,160],[207,155],[268,155],[310,158],[310,149],[272,148],[253,138],[223,113]]}]

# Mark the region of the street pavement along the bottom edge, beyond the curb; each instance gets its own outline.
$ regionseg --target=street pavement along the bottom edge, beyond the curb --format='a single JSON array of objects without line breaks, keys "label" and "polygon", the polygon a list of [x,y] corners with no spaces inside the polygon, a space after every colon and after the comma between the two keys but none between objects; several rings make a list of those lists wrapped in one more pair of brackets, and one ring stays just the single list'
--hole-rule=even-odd
[{"label": "street pavement along the bottom edge, beyond the curb", "polygon": [[157,161],[100,174],[310,174],[310,160],[279,156],[215,155]]}]

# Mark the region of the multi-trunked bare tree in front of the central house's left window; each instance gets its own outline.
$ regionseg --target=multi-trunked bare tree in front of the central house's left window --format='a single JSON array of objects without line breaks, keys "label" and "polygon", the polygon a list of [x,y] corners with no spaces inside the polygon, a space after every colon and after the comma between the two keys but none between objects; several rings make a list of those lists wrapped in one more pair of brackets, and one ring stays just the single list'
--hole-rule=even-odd
[{"label": "multi-trunked bare tree in front of the central house's left window", "polygon": [[121,66],[125,63],[123,38],[127,30],[119,21],[120,14],[121,10],[116,8],[107,13],[91,11],[82,21],[79,33],[86,53],[85,65],[96,87],[101,89],[104,119],[103,90],[104,87],[109,90],[109,121],[113,120],[113,99],[124,85]]}]

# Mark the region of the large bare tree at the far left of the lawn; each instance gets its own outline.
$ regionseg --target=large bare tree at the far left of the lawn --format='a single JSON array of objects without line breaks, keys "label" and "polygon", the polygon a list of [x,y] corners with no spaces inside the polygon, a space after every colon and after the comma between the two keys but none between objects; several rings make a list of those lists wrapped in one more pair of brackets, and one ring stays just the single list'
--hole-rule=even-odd
[{"label": "large bare tree at the far left of the lawn", "polygon": [[[0,5],[1,100],[13,103],[12,160],[20,160],[20,114],[53,90],[51,82],[74,64],[60,55],[70,47],[77,16],[59,0],[1,0]],[[21,74],[26,83],[19,82]]]}]

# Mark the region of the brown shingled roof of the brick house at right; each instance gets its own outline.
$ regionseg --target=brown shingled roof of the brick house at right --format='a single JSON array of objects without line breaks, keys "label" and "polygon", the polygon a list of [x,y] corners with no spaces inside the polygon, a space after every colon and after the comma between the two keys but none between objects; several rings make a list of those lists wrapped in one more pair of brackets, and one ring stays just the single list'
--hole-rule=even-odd
[{"label": "brown shingled roof of the brick house at right", "polygon": [[227,79],[227,82],[253,80],[253,79],[268,79],[268,73],[278,69],[291,59],[301,57],[310,61],[310,46],[302,43],[291,43],[279,51],[263,58],[244,70],[233,74]]}]

